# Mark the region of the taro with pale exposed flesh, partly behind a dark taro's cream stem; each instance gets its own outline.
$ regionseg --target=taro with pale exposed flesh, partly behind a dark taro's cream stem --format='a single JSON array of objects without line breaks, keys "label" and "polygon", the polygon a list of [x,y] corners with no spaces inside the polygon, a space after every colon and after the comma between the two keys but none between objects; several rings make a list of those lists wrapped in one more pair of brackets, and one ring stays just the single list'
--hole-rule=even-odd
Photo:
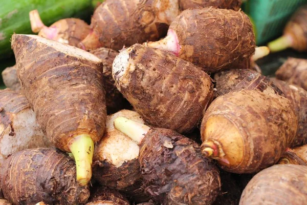
[{"label": "taro with pale exposed flesh, partly behind a dark taro's cream stem", "polygon": [[106,118],[106,130],[98,142],[93,158],[93,176],[103,186],[127,193],[137,202],[148,200],[141,189],[139,146],[113,125],[122,116],[144,124],[134,111],[121,110]]}]

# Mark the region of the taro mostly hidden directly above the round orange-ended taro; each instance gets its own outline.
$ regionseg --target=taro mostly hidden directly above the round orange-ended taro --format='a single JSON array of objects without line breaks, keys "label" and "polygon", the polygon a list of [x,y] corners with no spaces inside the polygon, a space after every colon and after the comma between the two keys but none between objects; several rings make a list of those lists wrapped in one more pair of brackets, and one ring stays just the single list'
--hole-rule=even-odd
[{"label": "taro mostly hidden directly above the round orange-ended taro", "polygon": [[258,90],[264,93],[275,93],[284,96],[282,91],[273,84],[270,78],[253,70],[230,69],[214,75],[214,97],[236,90]]}]

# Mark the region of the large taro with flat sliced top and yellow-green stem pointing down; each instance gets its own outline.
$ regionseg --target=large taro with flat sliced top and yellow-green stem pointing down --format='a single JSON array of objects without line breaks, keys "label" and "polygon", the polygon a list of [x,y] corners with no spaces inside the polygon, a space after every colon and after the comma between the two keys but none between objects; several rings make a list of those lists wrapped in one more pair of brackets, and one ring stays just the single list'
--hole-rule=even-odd
[{"label": "large taro with flat sliced top and yellow-green stem pointing down", "polygon": [[12,48],[17,75],[38,124],[56,148],[74,155],[77,180],[87,185],[94,143],[105,130],[101,60],[37,35],[14,34]]}]

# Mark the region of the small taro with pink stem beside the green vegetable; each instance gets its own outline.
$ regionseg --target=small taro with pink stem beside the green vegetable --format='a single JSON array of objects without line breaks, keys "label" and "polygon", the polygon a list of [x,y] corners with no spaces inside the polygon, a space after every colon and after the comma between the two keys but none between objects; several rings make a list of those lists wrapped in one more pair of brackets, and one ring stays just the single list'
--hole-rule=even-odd
[{"label": "small taro with pink stem beside the green vegetable", "polygon": [[71,46],[77,46],[91,31],[90,26],[78,18],[60,19],[47,27],[42,23],[37,10],[30,11],[29,16],[34,33]]}]

